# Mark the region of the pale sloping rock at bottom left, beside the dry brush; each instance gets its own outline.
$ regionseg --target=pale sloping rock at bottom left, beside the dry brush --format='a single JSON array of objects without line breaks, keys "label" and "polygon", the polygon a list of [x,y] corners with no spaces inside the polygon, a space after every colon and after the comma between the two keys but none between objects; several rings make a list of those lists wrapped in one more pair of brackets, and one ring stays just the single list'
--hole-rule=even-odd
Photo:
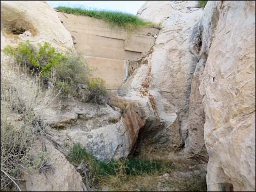
[{"label": "pale sloping rock at bottom left, beside the dry brush", "polygon": [[[82,177],[73,165],[60,153],[51,142],[46,141],[45,147],[50,157],[50,169],[46,172],[25,174],[22,191],[87,191]],[[38,154],[42,148],[40,142],[33,145],[32,154]]]}]

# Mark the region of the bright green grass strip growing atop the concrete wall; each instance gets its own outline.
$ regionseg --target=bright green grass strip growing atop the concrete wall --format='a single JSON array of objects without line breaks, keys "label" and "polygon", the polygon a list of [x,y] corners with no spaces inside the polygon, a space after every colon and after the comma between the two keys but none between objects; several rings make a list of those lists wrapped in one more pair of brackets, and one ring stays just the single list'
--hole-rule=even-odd
[{"label": "bright green grass strip growing atop the concrete wall", "polygon": [[135,15],[121,13],[117,11],[104,11],[104,10],[86,10],[81,8],[68,8],[68,7],[57,7],[57,10],[74,15],[82,15],[88,17],[99,18],[114,26],[123,27],[128,30],[132,30],[138,27],[148,26],[148,27],[158,27],[157,24],[144,21]]}]

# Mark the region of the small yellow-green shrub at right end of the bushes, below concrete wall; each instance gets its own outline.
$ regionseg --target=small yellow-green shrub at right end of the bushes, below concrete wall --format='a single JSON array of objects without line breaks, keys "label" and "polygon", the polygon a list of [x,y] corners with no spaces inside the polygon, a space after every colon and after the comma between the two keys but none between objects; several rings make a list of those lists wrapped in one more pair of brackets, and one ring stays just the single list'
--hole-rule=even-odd
[{"label": "small yellow-green shrub at right end of the bushes, below concrete wall", "polygon": [[107,101],[105,80],[101,78],[88,79],[88,89],[90,91],[90,101],[98,104],[102,104]]}]

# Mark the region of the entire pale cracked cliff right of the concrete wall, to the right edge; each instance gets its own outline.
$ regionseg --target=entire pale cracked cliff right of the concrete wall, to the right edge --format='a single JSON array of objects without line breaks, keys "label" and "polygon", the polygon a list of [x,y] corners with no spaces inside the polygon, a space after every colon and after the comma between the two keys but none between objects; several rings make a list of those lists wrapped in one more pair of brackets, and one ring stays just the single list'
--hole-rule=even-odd
[{"label": "entire pale cracked cliff right of the concrete wall, to the right edge", "polygon": [[138,16],[162,29],[126,97],[149,79],[140,100],[178,116],[185,157],[207,162],[207,148],[208,189],[255,190],[255,2],[147,1]]}]

